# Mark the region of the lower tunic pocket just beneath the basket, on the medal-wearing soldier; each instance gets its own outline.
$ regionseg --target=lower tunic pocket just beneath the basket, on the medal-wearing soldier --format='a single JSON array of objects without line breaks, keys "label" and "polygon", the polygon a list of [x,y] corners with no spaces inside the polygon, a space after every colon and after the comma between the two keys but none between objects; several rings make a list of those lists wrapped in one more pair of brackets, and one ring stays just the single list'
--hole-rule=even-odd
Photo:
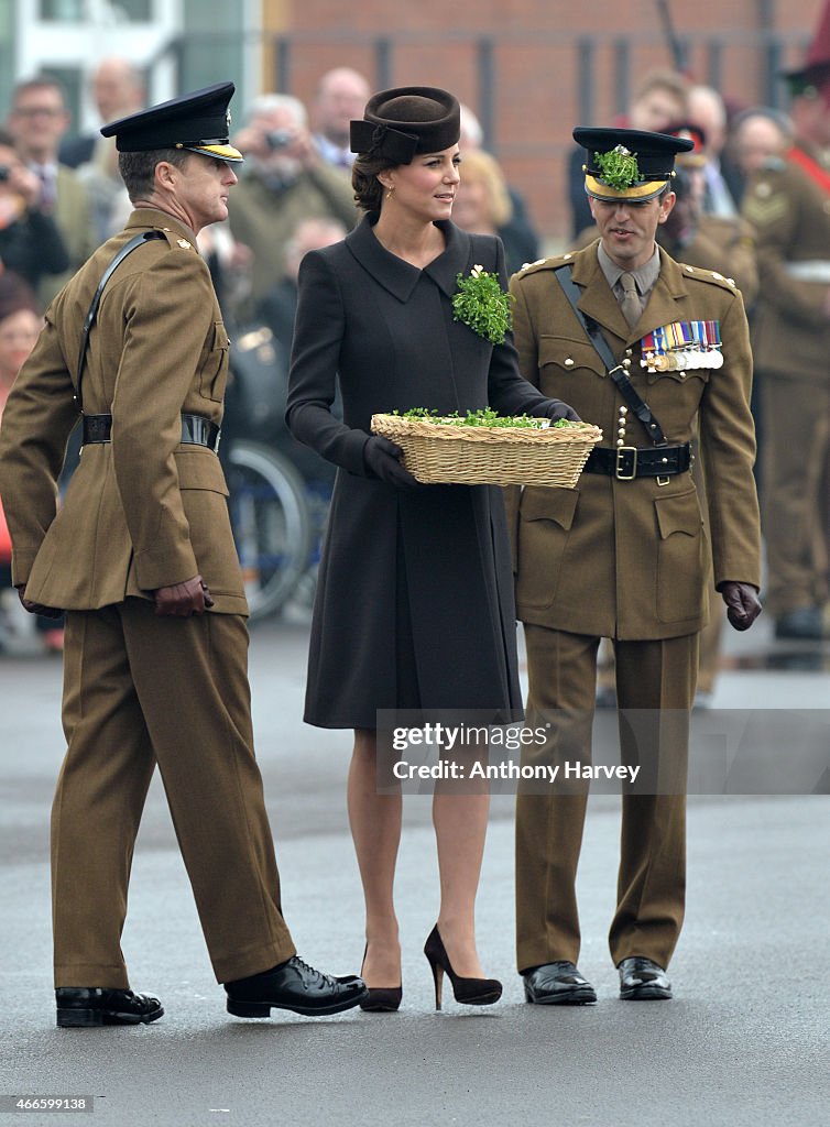
[{"label": "lower tunic pocket just beneath the basket, on the medal-wearing soldier", "polygon": [[519,606],[548,607],[556,598],[579,489],[528,487],[519,508]]}]

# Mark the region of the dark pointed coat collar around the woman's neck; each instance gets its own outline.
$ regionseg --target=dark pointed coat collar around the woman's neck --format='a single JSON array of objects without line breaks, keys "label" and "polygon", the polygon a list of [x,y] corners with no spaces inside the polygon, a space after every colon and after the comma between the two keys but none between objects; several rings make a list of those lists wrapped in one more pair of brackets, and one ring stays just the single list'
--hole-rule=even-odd
[{"label": "dark pointed coat collar around the woman's neck", "polygon": [[469,234],[449,220],[439,220],[435,225],[443,231],[447,246],[438,258],[420,270],[417,266],[390,254],[376,239],[372,231],[376,222],[377,215],[374,213],[365,215],[363,221],[346,236],[345,243],[361,266],[372,275],[379,285],[388,290],[398,301],[404,302],[412,296],[421,275],[426,274],[448,298],[456,293],[458,289],[457,276],[465,269],[470,258],[473,240]]}]

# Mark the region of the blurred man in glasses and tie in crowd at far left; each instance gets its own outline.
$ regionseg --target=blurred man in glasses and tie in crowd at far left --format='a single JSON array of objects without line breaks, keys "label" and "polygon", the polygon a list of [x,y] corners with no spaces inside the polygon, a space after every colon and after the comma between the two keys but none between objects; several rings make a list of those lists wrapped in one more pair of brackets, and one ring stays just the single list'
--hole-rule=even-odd
[{"label": "blurred man in glasses and tie in crowd at far left", "polygon": [[7,124],[20,159],[41,180],[41,208],[54,219],[69,251],[65,273],[50,273],[38,284],[38,301],[45,309],[98,246],[83,184],[58,159],[61,137],[69,126],[60,82],[44,74],[18,82]]}]

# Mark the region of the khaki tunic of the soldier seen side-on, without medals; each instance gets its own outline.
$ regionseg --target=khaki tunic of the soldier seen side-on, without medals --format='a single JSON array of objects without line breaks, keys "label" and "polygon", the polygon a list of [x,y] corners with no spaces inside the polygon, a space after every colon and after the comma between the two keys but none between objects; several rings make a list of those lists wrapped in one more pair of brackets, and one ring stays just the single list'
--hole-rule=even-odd
[{"label": "khaki tunic of the soldier seen side-on, without medals", "polygon": [[[113,441],[85,447],[59,509],[53,474],[78,417],[81,327],[116,251],[151,228],[165,238],[122,263],[90,334],[83,407],[113,412]],[[214,611],[246,613],[219,460],[180,443],[180,411],[221,421],[228,349],[193,232],[162,212],[134,212],[55,299],[6,408],[0,446],[12,578],[29,598],[96,610],[201,574]],[[37,434],[37,444],[19,445],[20,434]]]}]

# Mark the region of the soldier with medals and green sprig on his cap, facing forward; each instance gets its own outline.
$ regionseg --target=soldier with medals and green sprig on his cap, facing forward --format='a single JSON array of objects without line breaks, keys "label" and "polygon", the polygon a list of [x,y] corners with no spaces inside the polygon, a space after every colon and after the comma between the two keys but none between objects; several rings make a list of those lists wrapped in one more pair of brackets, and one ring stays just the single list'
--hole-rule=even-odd
[{"label": "soldier with medals and green sprig on his cap, facing forward", "polygon": [[[600,238],[514,275],[524,376],[602,428],[573,488],[527,487],[514,505],[516,604],[528,653],[528,724],[553,764],[516,808],[518,966],[538,1004],[597,1001],[579,971],[575,895],[591,764],[597,648],[616,655],[624,782],[610,950],[620,997],[671,997],[665,968],[683,919],[688,717],[713,582],[732,625],[760,611],[758,506],[743,302],[719,274],[655,243],[688,140],[577,128]],[[712,543],[689,443],[706,460]],[[574,781],[573,769],[577,778]]]}]

